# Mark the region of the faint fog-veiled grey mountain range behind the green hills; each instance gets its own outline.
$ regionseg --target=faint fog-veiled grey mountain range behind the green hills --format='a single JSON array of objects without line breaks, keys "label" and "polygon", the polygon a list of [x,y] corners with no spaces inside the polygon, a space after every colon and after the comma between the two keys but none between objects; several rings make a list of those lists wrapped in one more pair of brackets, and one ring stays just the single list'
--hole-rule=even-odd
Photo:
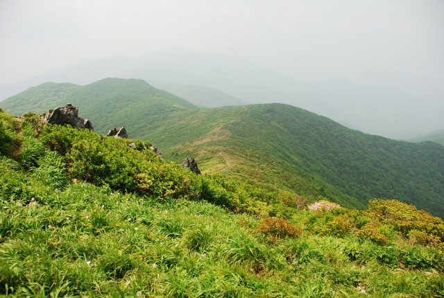
[{"label": "faint fog-veiled grey mountain range behind the green hills", "polygon": [[[185,99],[191,94],[196,100],[205,99],[211,90],[212,104],[207,107],[219,106],[217,98],[222,94],[233,104],[290,104],[387,138],[416,138],[444,127],[444,103],[426,96],[419,99],[394,88],[340,80],[307,83],[244,58],[182,48],[135,58],[85,61],[16,84],[0,85],[0,100],[48,81],[85,85],[105,77],[140,78]],[[213,97],[214,93],[218,95]]]}]

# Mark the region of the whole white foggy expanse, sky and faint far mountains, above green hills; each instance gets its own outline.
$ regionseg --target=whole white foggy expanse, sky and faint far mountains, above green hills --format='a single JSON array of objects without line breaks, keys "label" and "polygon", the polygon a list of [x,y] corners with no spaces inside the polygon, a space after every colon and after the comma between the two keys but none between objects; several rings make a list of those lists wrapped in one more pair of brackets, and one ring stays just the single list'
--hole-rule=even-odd
[{"label": "whole white foggy expanse, sky and faint far mountains, above green hills", "polygon": [[413,138],[444,127],[443,37],[438,0],[2,1],[0,100],[142,78]]}]

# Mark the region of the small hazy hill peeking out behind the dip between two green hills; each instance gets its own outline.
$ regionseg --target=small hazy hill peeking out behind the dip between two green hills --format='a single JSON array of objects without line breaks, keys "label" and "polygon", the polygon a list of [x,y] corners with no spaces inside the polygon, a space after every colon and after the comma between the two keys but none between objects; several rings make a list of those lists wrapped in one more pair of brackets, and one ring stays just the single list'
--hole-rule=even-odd
[{"label": "small hazy hill peeking out behind the dip between two green hills", "polygon": [[169,83],[160,85],[160,88],[186,99],[199,108],[219,108],[220,106],[241,106],[248,104],[246,101],[237,99],[225,92],[198,85]]}]

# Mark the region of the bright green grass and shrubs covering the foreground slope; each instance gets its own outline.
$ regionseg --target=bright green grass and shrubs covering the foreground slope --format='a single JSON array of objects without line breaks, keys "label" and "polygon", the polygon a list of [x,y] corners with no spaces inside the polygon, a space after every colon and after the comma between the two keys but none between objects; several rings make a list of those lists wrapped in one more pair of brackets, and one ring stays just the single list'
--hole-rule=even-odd
[{"label": "bright green grass and shrubs covering the foreground slope", "polygon": [[148,145],[0,112],[0,295],[444,296],[438,217],[308,204]]}]

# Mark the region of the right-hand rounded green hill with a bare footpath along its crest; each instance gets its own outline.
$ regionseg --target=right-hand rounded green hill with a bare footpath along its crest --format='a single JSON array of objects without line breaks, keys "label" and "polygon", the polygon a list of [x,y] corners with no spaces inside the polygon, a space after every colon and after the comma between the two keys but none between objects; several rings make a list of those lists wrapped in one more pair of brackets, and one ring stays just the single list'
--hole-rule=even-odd
[{"label": "right-hand rounded green hill with a bare footpath along its crest", "polygon": [[367,135],[283,104],[176,113],[164,123],[143,138],[167,158],[197,157],[208,172],[352,207],[375,197],[399,199],[444,216],[444,149],[438,144]]}]

